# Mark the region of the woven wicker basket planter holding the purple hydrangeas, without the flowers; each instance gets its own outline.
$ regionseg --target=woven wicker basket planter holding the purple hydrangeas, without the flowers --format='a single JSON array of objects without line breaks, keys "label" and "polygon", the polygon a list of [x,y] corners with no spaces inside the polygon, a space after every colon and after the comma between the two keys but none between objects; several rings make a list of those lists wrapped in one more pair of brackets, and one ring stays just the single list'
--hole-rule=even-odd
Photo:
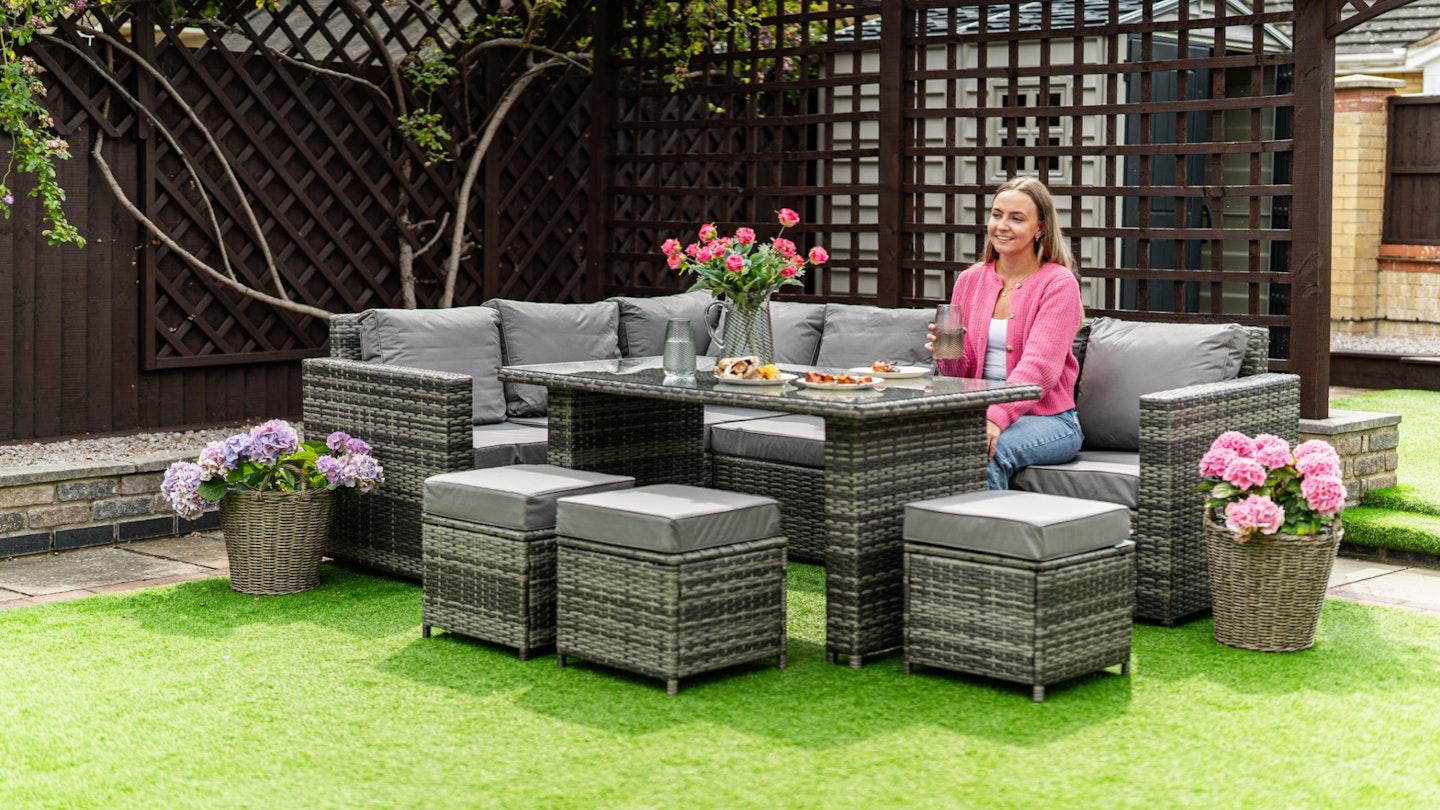
[{"label": "woven wicker basket planter holding the purple hydrangeas, without the flowers", "polygon": [[230,589],[275,595],[320,584],[320,556],[336,517],[336,493],[232,491],[220,499]]}]

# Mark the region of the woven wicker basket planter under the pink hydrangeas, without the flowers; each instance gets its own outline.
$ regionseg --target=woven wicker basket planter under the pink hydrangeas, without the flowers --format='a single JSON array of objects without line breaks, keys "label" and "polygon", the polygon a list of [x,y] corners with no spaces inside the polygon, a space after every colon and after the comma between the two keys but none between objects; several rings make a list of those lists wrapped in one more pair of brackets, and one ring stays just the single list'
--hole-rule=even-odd
[{"label": "woven wicker basket planter under the pink hydrangeas, without the flowers", "polygon": [[1272,535],[1237,543],[1224,522],[1207,510],[1215,641],[1263,653],[1293,653],[1315,644],[1342,535],[1336,522],[1323,535]]}]

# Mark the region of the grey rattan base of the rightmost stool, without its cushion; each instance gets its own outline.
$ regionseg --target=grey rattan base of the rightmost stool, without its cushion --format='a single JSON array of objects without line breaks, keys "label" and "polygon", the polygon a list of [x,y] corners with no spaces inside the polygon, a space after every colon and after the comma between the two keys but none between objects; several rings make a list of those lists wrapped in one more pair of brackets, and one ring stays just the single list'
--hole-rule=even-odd
[{"label": "grey rattan base of the rightmost stool, without its cushion", "polygon": [[1130,672],[1135,545],[1032,562],[904,545],[904,670],[914,664],[1045,686]]}]

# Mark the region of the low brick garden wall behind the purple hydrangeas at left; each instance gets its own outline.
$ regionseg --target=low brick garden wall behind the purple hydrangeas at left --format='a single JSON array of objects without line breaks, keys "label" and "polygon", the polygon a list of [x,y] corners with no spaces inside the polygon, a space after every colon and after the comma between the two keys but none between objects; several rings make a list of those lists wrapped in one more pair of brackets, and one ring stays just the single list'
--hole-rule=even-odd
[{"label": "low brick garden wall behind the purple hydrangeas at left", "polygon": [[0,470],[0,558],[219,528],[217,512],[186,520],[160,496],[166,467],[193,457]]}]

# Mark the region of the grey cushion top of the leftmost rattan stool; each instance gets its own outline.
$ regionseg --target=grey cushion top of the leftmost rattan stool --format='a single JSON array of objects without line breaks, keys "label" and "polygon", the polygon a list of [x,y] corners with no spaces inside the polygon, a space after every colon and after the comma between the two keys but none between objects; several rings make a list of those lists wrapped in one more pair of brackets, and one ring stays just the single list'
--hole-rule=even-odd
[{"label": "grey cushion top of the leftmost rattan stool", "polygon": [[629,489],[631,476],[566,470],[553,464],[513,464],[488,470],[442,473],[425,479],[425,512],[518,532],[554,526],[554,500]]}]

